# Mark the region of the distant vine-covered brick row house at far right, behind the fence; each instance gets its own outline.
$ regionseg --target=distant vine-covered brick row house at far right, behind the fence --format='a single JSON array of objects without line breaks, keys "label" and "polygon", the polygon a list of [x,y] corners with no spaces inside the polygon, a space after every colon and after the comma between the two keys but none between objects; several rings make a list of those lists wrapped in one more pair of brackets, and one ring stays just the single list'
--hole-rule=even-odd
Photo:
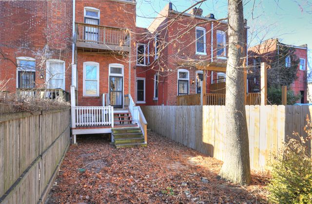
[{"label": "distant vine-covered brick row house at far right, behind the fence", "polygon": [[260,63],[268,65],[268,86],[288,86],[297,103],[307,103],[307,44],[293,46],[281,43],[278,38],[267,39],[248,50],[249,65],[248,91],[259,92]]}]

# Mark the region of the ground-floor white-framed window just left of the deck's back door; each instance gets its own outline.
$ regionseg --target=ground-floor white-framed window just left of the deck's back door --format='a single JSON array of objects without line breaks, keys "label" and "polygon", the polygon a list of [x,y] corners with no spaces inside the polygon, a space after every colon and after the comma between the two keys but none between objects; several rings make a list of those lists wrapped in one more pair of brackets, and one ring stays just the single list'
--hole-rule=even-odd
[{"label": "ground-floor white-framed window just left of the deck's back door", "polygon": [[99,63],[83,62],[83,96],[99,96]]}]

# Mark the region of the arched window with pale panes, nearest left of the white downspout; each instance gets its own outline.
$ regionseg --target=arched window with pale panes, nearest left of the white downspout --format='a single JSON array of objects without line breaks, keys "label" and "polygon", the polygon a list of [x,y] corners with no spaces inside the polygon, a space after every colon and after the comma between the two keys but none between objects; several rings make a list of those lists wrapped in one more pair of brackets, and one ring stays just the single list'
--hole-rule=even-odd
[{"label": "arched window with pale panes, nearest left of the white downspout", "polygon": [[47,60],[45,80],[48,89],[65,90],[65,62],[59,59]]}]

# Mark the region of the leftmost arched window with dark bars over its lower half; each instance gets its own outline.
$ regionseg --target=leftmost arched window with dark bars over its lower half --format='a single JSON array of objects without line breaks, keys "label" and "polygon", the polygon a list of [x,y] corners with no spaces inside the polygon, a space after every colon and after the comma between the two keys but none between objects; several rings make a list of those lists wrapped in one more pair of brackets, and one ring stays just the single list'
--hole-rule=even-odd
[{"label": "leftmost arched window with dark bars over its lower half", "polygon": [[35,88],[36,59],[27,56],[16,58],[18,67],[16,69],[16,87],[24,89]]}]

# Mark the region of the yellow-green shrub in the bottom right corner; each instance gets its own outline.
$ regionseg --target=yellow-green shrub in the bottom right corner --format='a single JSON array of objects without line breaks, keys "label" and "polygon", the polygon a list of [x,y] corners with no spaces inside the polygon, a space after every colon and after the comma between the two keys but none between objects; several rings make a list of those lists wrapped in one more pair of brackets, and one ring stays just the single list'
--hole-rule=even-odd
[{"label": "yellow-green shrub in the bottom right corner", "polygon": [[312,159],[302,142],[291,139],[273,164],[270,202],[312,203]]}]

